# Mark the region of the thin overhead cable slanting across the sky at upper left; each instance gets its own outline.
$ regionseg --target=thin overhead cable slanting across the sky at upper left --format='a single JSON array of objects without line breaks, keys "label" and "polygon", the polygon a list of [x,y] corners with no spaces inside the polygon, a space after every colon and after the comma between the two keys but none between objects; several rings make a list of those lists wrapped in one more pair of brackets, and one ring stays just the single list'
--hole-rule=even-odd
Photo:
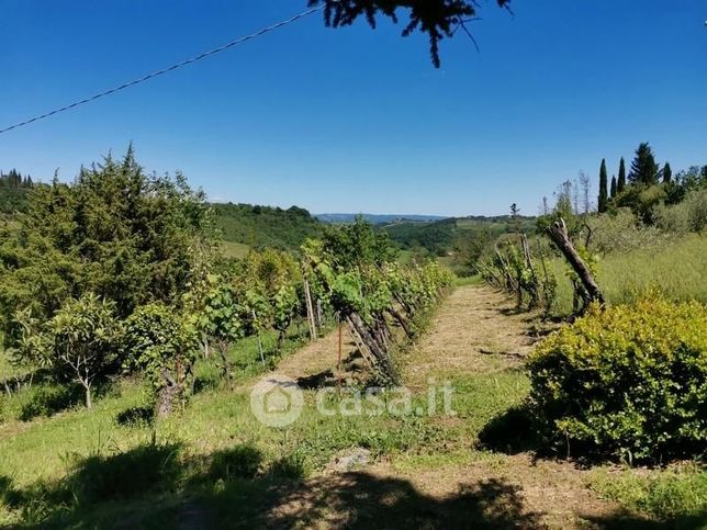
[{"label": "thin overhead cable slanting across the sky at upper left", "polygon": [[259,36],[265,35],[266,33],[270,33],[274,30],[279,30],[282,26],[285,26],[288,24],[292,24],[293,22],[296,22],[300,19],[304,19],[305,16],[308,16],[317,11],[321,11],[324,9],[324,5],[319,5],[317,8],[312,8],[306,11],[303,11],[301,13],[295,14],[294,16],[283,20],[281,22],[278,22],[276,24],[269,25],[268,27],[263,27],[262,30],[251,33],[250,35],[246,35],[243,37],[239,37],[235,41],[231,41],[227,44],[224,44],[223,46],[218,46],[217,48],[210,49],[209,52],[204,52],[203,54],[199,54],[194,57],[190,57],[189,59],[184,59],[180,63],[173,64],[171,66],[168,66],[167,68],[162,68],[160,70],[153,71],[150,74],[147,74],[138,79],[133,79],[132,81],[124,82],[123,84],[120,84],[117,87],[114,87],[112,89],[105,90],[103,92],[97,93],[94,95],[91,95],[90,98],[82,99],[80,101],[75,101],[74,103],[69,103],[68,105],[60,106],[58,109],[54,109],[49,112],[46,112],[44,114],[40,114],[37,116],[31,117],[29,120],[25,120],[20,123],[15,123],[14,125],[10,125],[4,128],[0,128],[0,134],[7,133],[9,131],[12,131],[14,128],[23,127],[24,125],[29,125],[34,122],[38,122],[40,120],[47,119],[49,116],[53,116],[55,114],[59,114],[60,112],[69,111],[71,109],[76,109],[77,106],[83,105],[86,103],[90,103],[92,101],[96,101],[98,99],[104,98],[106,95],[114,94],[115,92],[120,92],[121,90],[125,90],[127,88],[134,87],[136,84],[139,84],[142,82],[148,81],[155,77],[158,76],[164,76],[165,74],[168,74],[170,71],[177,70],[178,68],[182,68],[184,66],[191,65],[192,63],[197,63],[198,60],[205,59],[206,57],[210,57],[212,55],[218,54],[221,52],[225,52],[226,49],[233,48],[234,46],[237,46],[239,44],[243,44],[247,41],[252,41],[254,38],[257,38]]}]

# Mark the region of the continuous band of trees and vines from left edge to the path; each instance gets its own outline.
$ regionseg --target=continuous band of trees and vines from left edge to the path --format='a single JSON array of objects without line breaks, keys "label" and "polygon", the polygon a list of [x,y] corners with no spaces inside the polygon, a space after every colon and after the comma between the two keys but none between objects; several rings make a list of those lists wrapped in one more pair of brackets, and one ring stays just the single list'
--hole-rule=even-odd
[{"label": "continuous band of trees and vines from left edge to the path", "polygon": [[[289,214],[308,217],[304,211]],[[187,179],[146,173],[132,147],[38,187],[16,226],[0,227],[0,330],[12,362],[80,385],[91,407],[110,377],[139,374],[157,414],[193,392],[201,354],[226,385],[231,347],[325,315],[358,338],[382,380],[392,351],[451,279],[435,264],[399,266],[384,234],[358,219],[324,227],[296,252],[220,252],[214,208]],[[391,324],[390,319],[394,324]],[[260,342],[260,341],[259,341]],[[269,361],[260,343],[260,360]]]}]

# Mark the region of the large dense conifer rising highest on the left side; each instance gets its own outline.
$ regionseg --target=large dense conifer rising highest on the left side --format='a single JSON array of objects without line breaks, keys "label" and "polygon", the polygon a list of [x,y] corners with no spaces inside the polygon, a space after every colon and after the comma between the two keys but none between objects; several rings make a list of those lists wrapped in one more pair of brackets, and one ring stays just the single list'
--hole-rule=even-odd
[{"label": "large dense conifer rising highest on the left side", "polygon": [[124,318],[150,302],[179,304],[207,247],[210,211],[186,179],[146,174],[132,148],[83,169],[72,184],[37,187],[12,237],[0,241],[0,328],[13,314],[49,319],[64,301],[94,293]]}]

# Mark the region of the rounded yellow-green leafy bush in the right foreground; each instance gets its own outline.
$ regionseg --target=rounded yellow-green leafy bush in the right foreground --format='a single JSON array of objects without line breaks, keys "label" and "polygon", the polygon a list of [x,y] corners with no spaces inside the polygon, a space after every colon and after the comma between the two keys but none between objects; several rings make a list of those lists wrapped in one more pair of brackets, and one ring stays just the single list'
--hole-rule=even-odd
[{"label": "rounded yellow-green leafy bush in the right foreground", "polygon": [[593,307],[529,359],[531,399],[545,433],[629,461],[704,451],[707,306],[655,295]]}]

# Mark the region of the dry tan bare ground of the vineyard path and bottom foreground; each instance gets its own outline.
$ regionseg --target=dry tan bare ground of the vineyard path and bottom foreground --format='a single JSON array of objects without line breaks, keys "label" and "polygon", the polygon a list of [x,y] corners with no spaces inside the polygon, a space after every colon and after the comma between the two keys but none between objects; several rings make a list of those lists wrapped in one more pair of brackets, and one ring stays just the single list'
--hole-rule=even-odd
[{"label": "dry tan bare ground of the vineyard path and bottom foreground", "polygon": [[[473,374],[517,368],[547,332],[537,322],[490,287],[459,287],[411,352],[405,382],[422,386],[431,371]],[[307,377],[334,368],[337,340],[335,331],[278,371]],[[349,341],[345,336],[345,345]],[[616,512],[616,506],[588,488],[588,473],[529,452],[409,471],[375,462],[314,476],[283,492],[267,520],[276,528],[595,528],[592,521]]]}]

